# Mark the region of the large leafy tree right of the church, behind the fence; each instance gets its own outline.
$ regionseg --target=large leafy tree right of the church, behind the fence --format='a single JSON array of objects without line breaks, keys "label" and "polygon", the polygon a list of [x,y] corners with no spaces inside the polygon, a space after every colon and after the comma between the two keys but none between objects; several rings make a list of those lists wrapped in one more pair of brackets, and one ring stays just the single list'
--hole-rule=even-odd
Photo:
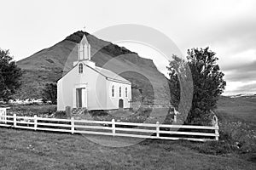
[{"label": "large leafy tree right of the church, behind the fence", "polygon": [[[224,73],[219,69],[215,53],[209,48],[192,48],[188,50],[187,54],[194,89],[192,105],[186,122],[208,124],[212,120],[212,111],[217,107],[218,97],[224,92],[226,85]],[[182,65],[177,65],[177,63],[176,61],[175,67],[171,61],[167,67],[170,71],[171,96],[174,97],[171,102],[174,105],[177,105],[177,101],[180,99],[180,89],[178,88],[180,86],[176,72]]]}]

